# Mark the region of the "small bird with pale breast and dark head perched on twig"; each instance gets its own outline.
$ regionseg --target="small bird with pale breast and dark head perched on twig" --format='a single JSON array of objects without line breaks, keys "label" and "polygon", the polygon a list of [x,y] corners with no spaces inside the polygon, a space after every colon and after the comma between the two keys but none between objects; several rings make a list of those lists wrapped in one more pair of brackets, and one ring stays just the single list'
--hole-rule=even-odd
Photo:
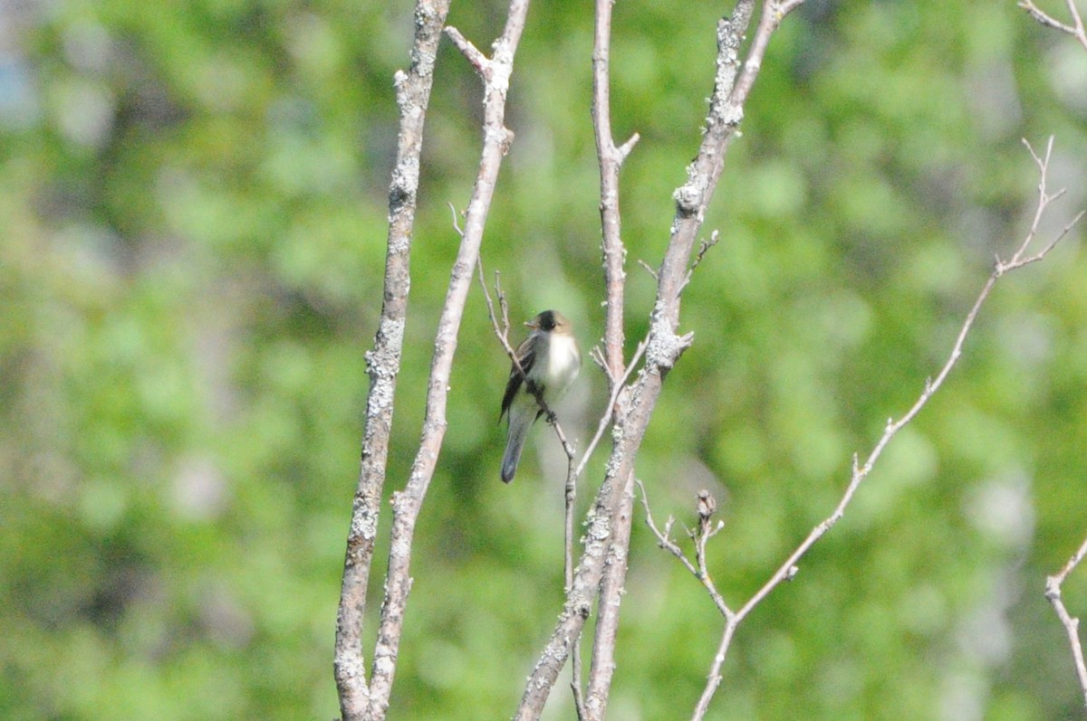
[{"label": "small bird with pale breast and dark head perched on twig", "polygon": [[534,390],[551,408],[582,369],[582,352],[577,347],[574,330],[561,313],[545,311],[525,325],[533,332],[517,346],[516,355],[528,382],[525,383],[525,378],[513,364],[510,382],[505,384],[505,395],[502,396],[502,412],[498,415],[499,420],[503,415],[509,415],[510,419],[505,454],[502,456],[502,480],[507,483],[517,472],[528,429],[544,415]]}]

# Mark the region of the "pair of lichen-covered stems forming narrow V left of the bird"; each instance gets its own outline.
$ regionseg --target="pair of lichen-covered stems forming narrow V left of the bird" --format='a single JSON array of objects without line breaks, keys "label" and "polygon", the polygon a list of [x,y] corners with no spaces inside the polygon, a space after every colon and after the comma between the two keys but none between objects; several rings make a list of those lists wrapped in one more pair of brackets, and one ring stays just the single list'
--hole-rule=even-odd
[{"label": "pair of lichen-covered stems forming narrow V left of the bird", "polygon": [[448,9],[448,0],[418,0],[415,9],[416,38],[412,48],[411,71],[408,74],[397,74],[397,101],[401,111],[401,126],[398,161],[389,192],[386,303],[375,349],[367,354],[372,384],[367,401],[362,471],[348,536],[343,586],[337,617],[335,668],[343,721],[380,721],[385,719],[388,710],[404,611],[412,584],[411,555],[415,523],[430,479],[434,477],[445,439],[449,377],[464,304],[472,282],[472,268],[479,255],[484,224],[498,170],[513,137],[504,125],[505,96],[513,72],[514,52],[525,26],[527,0],[511,0],[505,27],[495,42],[495,54],[490,59],[483,59],[482,54],[459,33],[449,31],[447,28],[450,37],[484,80],[484,143],[472,199],[464,216],[464,228],[458,230],[461,241],[438,320],[418,452],[403,489],[392,494],[388,571],[385,577],[380,620],[367,683],[361,643],[366,580],[373,559],[377,511],[385,480],[385,457],[392,414],[392,381],[400,366],[400,345],[410,284],[408,250],[411,244],[415,192],[418,185],[418,148],[434,59]]}]

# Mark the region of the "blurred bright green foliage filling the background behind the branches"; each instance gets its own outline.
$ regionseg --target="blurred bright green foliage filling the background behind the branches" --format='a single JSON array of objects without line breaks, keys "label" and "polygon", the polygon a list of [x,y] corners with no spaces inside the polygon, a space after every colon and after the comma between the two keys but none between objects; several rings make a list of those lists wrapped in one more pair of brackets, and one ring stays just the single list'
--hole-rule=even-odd
[{"label": "blurred bright green foliage filling the background behind the branches", "polygon": [[[662,254],[727,9],[615,8],[615,136],[641,135],[623,170],[632,350],[653,293],[634,261]],[[0,12],[0,716],[333,718],[412,8]],[[454,4],[450,23],[486,48],[502,16]],[[483,251],[515,319],[558,306],[586,349],[602,322],[591,37],[586,3],[533,7]],[[1012,2],[809,0],[785,22],[707,218],[721,243],[685,295],[696,343],[638,467],[659,520],[691,522],[700,488],[717,497],[711,567],[732,603],[830,511],[853,452],[913,402],[1023,237],[1037,176],[1021,137],[1057,136],[1050,182],[1069,189],[1044,240],[1085,204],[1085,87],[1087,54]],[[418,434],[478,96],[443,43],[389,491]],[[1078,718],[1042,586],[1087,532],[1084,270],[1073,232],[1000,282],[945,389],[741,627],[711,718]],[[498,482],[505,372],[475,289],[391,719],[507,717],[559,608],[562,464],[541,428]],[[587,365],[563,407],[583,443],[602,394]],[[686,718],[721,619],[641,518],[611,716]],[[548,718],[571,718],[563,686]]]}]

